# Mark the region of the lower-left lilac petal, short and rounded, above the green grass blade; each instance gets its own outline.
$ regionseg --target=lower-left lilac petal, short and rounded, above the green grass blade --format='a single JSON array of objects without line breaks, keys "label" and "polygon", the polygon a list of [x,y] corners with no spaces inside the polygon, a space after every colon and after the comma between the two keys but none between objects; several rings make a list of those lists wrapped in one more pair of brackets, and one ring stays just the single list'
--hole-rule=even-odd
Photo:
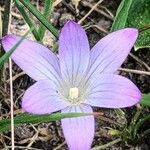
[{"label": "lower-left lilac petal, short and rounded, above the green grass blade", "polygon": [[48,114],[67,106],[50,80],[36,82],[27,89],[22,99],[23,110],[32,114]]}]

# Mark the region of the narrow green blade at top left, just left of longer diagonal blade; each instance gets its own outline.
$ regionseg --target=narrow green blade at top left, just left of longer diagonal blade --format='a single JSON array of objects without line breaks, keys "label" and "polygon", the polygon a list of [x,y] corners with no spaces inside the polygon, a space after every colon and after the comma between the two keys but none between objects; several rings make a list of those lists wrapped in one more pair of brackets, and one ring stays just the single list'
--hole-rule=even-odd
[{"label": "narrow green blade at top left, just left of longer diagonal blade", "polygon": [[19,10],[19,12],[21,13],[21,15],[23,16],[25,22],[28,24],[28,26],[30,28],[34,27],[33,30],[32,30],[32,33],[33,33],[35,39],[37,41],[40,41],[39,33],[36,30],[35,25],[32,23],[32,20],[30,19],[30,17],[28,16],[28,14],[26,13],[26,11],[24,10],[23,5],[19,2],[19,0],[15,0],[15,5],[16,5],[17,9]]}]

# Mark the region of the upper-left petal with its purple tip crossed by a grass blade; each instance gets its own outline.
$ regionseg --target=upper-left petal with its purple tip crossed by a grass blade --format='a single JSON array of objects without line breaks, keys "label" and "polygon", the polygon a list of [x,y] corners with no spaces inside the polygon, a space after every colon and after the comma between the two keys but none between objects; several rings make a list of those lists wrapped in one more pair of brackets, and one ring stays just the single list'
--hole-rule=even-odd
[{"label": "upper-left petal with its purple tip crossed by a grass blade", "polygon": [[[9,51],[20,36],[6,35],[2,39],[5,51]],[[56,80],[60,74],[58,58],[43,45],[24,39],[12,54],[15,63],[35,80]]]}]

